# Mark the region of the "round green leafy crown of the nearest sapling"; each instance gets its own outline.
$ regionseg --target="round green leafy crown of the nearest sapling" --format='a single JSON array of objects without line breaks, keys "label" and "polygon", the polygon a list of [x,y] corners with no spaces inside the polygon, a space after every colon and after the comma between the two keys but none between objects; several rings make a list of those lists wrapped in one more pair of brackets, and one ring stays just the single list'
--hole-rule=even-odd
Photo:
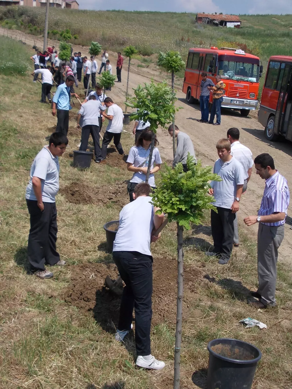
[{"label": "round green leafy crown of the nearest sapling", "polygon": [[152,203],[160,208],[158,213],[168,214],[170,221],[179,222],[186,230],[190,230],[190,223],[200,224],[204,218],[204,209],[214,209],[211,204],[213,196],[207,194],[210,188],[209,181],[220,181],[217,174],[211,173],[212,167],[202,167],[201,161],[195,165],[194,159],[188,153],[186,161],[188,172],[183,172],[183,165],[179,163],[174,169],[165,164],[166,173],[161,173],[162,182],[152,195]]}]

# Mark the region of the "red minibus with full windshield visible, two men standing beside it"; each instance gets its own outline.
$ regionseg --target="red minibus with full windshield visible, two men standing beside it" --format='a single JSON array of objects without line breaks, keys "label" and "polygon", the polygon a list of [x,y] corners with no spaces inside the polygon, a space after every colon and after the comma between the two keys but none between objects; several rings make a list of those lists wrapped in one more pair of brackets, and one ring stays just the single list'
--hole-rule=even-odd
[{"label": "red minibus with full windshield visible, two men standing beside it", "polygon": [[[250,110],[257,108],[262,75],[259,57],[228,47],[190,49],[183,82],[188,103],[200,98],[202,72],[206,72],[214,84],[215,76],[220,75],[225,89],[222,107],[240,110],[242,116],[248,116]],[[209,102],[212,103],[212,94]]]}]

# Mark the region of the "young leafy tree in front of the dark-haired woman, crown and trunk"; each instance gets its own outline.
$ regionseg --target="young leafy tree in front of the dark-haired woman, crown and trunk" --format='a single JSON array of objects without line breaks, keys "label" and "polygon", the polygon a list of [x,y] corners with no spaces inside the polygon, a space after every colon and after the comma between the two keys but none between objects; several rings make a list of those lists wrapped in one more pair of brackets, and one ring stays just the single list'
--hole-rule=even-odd
[{"label": "young leafy tree in front of the dark-haired woman, crown and trunk", "polygon": [[[150,155],[148,161],[148,169],[146,173],[146,184],[148,184],[152,154],[154,149],[155,134],[158,126],[165,127],[171,123],[176,111],[174,102],[176,94],[172,92],[167,82],[159,82],[154,84],[151,79],[150,84],[144,83],[144,87],[140,84],[134,89],[135,96],[130,98],[130,103],[126,103],[129,107],[136,108],[137,112],[130,115],[130,120],[149,121],[150,130],[153,131]],[[178,109],[177,109],[178,110]]]}]

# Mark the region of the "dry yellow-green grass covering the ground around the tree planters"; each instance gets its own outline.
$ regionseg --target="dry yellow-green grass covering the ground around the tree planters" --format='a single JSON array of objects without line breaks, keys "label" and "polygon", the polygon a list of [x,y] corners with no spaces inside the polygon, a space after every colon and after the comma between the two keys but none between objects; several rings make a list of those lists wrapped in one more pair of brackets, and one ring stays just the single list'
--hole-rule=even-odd
[{"label": "dry yellow-green grass covering the ground around the tree planters", "polygon": [[[3,42],[0,37],[1,47]],[[25,60],[30,55],[27,52]],[[39,103],[40,84],[34,84],[30,75],[0,74],[0,83],[0,387],[167,387],[165,380],[172,377],[173,370],[174,317],[165,317],[153,325],[153,354],[167,362],[164,371],[153,374],[135,369],[132,339],[127,348],[115,342],[92,312],[79,310],[63,297],[64,291],[72,288],[71,278],[79,266],[111,263],[111,256],[103,249],[102,226],[118,217],[120,207],[114,202],[74,204],[65,195],[58,194],[57,247],[68,266],[54,268],[51,280],[41,281],[27,275],[29,217],[25,187],[33,158],[46,144],[44,138],[53,131],[56,119],[49,105]],[[72,112],[76,114],[76,108]],[[92,164],[85,172],[73,168],[68,154],[79,143],[80,134],[75,126],[72,117],[69,145],[60,158],[61,188],[72,182],[83,182],[102,190],[105,185],[114,186],[130,178],[125,168],[109,164]],[[128,152],[133,138],[123,133],[121,141]],[[167,226],[161,240],[153,246],[154,262],[164,256],[171,263],[176,256],[175,230],[174,224]],[[209,235],[209,215],[204,226],[194,226],[184,233],[185,266],[191,266],[194,271],[199,269],[201,275],[192,285],[192,293],[186,289],[189,300],[188,313],[183,320],[181,387],[194,387],[192,381],[197,387],[206,387],[208,341],[215,337],[232,337],[251,342],[262,351],[253,389],[291,388],[291,269],[278,264],[276,297],[279,307],[258,312],[246,304],[248,289],[257,287],[255,242],[240,231],[240,249],[234,251],[227,266],[218,266],[202,252],[211,242]],[[167,280],[159,281],[163,284]],[[187,281],[185,286],[188,287]],[[166,295],[176,290],[176,283],[168,288]],[[266,323],[268,329],[244,329],[238,322],[249,316]]]}]

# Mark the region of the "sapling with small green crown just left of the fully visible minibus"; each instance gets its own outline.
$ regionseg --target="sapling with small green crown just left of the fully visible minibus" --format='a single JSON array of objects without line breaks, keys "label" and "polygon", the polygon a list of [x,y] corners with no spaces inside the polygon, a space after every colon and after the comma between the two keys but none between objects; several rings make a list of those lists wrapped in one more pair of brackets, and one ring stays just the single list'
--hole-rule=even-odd
[{"label": "sapling with small green crown just left of the fully visible minibus", "polygon": [[[174,74],[185,68],[185,62],[181,59],[181,56],[178,51],[167,51],[167,53],[162,53],[158,56],[157,64],[165,68],[169,73],[171,72],[171,90],[174,93]],[[175,135],[175,121],[174,117],[172,120],[172,148],[173,156],[176,152],[176,135]]]}]

